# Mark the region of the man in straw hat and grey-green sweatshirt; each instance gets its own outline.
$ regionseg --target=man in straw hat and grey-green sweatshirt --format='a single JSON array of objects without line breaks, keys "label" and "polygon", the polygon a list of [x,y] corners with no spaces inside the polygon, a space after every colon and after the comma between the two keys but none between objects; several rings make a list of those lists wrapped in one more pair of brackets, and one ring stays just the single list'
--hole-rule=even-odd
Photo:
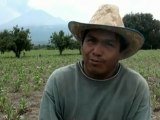
[{"label": "man in straw hat and grey-green sweatshirt", "polygon": [[89,24],[68,26],[83,59],[49,77],[39,120],[150,120],[146,80],[119,63],[141,48],[142,34],[124,27],[114,5],[101,6]]}]

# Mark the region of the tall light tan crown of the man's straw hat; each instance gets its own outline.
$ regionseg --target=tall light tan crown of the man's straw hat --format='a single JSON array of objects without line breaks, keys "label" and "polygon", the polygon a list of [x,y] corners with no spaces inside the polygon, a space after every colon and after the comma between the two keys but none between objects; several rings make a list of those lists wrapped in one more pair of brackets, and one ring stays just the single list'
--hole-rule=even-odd
[{"label": "tall light tan crown of the man's straw hat", "polygon": [[92,16],[90,24],[109,25],[115,27],[124,27],[119,14],[119,9],[115,5],[102,5]]}]

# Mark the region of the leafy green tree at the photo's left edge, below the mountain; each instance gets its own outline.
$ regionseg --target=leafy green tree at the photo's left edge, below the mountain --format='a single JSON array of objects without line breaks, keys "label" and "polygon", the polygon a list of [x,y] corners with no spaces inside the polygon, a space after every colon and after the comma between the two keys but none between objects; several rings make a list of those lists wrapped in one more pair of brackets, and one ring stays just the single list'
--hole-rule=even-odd
[{"label": "leafy green tree at the photo's left edge, below the mountain", "polygon": [[17,58],[23,50],[30,50],[32,47],[29,29],[13,27],[13,30],[4,30],[0,33],[0,50],[1,52],[13,51]]}]

